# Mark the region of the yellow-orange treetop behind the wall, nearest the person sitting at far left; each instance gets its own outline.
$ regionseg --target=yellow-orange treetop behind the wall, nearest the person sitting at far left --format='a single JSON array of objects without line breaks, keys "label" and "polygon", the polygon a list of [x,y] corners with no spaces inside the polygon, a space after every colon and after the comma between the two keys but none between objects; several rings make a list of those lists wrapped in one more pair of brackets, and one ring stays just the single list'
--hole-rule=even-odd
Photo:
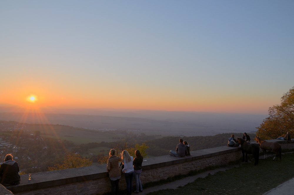
[{"label": "yellow-orange treetop behind the wall, nearest the person sitting at far left", "polygon": [[71,169],[77,167],[87,167],[92,165],[92,161],[86,158],[81,158],[79,154],[69,153],[66,155],[62,164],[55,164],[54,167],[48,167],[48,171]]}]

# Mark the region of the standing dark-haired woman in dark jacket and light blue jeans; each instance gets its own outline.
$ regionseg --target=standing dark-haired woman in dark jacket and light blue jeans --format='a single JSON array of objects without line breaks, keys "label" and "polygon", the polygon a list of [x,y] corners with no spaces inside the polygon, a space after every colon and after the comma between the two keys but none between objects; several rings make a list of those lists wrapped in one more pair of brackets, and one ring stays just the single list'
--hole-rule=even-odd
[{"label": "standing dark-haired woman in dark jacket and light blue jeans", "polygon": [[134,177],[136,181],[136,190],[134,193],[139,193],[139,188],[140,191],[143,191],[140,175],[142,173],[142,162],[143,162],[143,156],[141,155],[141,152],[139,150],[135,151],[136,157],[133,160],[133,165],[134,165]]}]

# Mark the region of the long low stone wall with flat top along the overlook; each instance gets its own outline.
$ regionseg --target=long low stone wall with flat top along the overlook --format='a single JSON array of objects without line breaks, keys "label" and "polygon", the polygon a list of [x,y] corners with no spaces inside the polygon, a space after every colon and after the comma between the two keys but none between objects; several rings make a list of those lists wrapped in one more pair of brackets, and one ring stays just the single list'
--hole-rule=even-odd
[{"label": "long low stone wall with flat top along the overlook", "polygon": [[[293,141],[277,141],[283,149],[293,149]],[[190,152],[189,157],[171,157],[169,155],[144,159],[142,164],[142,184],[151,181],[167,179],[170,176],[186,174],[191,170],[200,170],[208,166],[228,164],[230,161],[240,159],[240,147],[215,147]],[[111,190],[109,177],[106,175],[106,164],[64,169],[57,171],[41,172],[21,175],[21,183],[17,186],[6,188],[14,194],[39,195],[39,194],[104,194]],[[119,188],[125,189],[126,182],[122,175]]]}]

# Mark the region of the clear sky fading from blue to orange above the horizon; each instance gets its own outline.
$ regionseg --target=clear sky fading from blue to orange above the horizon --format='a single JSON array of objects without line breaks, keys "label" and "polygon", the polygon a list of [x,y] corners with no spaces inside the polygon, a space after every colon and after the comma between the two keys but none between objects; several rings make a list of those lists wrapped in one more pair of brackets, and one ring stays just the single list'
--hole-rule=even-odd
[{"label": "clear sky fading from blue to orange above the horizon", "polygon": [[267,113],[294,85],[293,10],[294,1],[0,1],[0,104]]}]

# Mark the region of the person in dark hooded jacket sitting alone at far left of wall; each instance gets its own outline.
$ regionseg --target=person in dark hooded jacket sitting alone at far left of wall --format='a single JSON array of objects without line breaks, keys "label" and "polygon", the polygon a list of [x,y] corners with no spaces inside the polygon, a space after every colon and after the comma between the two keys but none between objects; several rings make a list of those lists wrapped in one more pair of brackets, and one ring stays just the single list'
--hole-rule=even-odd
[{"label": "person in dark hooded jacket sitting alone at far left of wall", "polygon": [[4,163],[0,167],[0,183],[18,185],[20,181],[19,167],[12,159],[11,154],[6,154]]}]

